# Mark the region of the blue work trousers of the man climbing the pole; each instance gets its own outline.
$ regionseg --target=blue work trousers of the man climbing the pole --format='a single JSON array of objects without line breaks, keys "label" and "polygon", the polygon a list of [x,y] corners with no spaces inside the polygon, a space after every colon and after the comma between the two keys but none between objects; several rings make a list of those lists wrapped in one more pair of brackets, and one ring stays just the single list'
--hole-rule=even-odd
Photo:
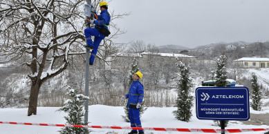
[{"label": "blue work trousers of the man climbing the pole", "polygon": [[[87,44],[89,46],[93,46],[93,50],[91,51],[91,57],[90,57],[90,62],[93,63],[95,56],[97,54],[98,47],[101,41],[104,39],[104,35],[102,35],[95,28],[86,28],[84,30],[84,35],[86,37]],[[94,36],[94,41],[91,40],[91,36]]]}]

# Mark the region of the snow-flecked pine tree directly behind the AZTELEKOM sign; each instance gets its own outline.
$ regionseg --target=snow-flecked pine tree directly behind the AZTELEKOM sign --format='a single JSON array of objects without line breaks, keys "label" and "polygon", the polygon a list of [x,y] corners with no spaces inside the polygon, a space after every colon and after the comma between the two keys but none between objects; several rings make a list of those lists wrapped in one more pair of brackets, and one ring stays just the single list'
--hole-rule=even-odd
[{"label": "snow-flecked pine tree directly behind the AZTELEKOM sign", "polygon": [[[216,72],[216,87],[225,87],[226,86],[226,79],[227,79],[227,70],[225,68],[227,63],[227,57],[225,55],[221,55],[219,59],[216,60],[217,70]],[[225,120],[225,127],[228,124],[228,120]],[[214,120],[214,123],[218,126],[221,126],[221,122],[218,120]]]}]

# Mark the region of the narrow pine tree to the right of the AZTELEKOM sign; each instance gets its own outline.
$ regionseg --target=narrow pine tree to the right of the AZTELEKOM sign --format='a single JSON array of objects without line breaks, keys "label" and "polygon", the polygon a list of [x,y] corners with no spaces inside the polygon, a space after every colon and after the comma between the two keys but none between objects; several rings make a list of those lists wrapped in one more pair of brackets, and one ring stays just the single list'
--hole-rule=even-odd
[{"label": "narrow pine tree to the right of the AZTELEKOM sign", "polygon": [[259,84],[257,82],[257,76],[252,73],[252,94],[250,97],[252,98],[252,102],[250,106],[255,110],[255,111],[261,111],[261,90],[259,88]]}]

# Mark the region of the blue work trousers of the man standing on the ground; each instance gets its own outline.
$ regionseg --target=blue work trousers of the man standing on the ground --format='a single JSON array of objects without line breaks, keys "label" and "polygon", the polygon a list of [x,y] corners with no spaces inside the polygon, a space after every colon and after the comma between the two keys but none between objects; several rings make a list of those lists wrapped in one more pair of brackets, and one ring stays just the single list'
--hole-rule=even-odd
[{"label": "blue work trousers of the man standing on the ground", "polygon": [[[131,127],[142,127],[139,115],[139,109],[129,108]],[[139,132],[142,132],[142,130],[139,130]]]}]

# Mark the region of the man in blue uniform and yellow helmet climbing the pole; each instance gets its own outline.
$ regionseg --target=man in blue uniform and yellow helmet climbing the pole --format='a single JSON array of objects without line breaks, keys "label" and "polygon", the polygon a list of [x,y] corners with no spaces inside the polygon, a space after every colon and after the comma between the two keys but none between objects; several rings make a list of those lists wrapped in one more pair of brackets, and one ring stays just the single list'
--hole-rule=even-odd
[{"label": "man in blue uniform and yellow helmet climbing the pole", "polygon": [[[98,15],[98,17],[95,16],[96,20],[89,20],[90,23],[95,24],[95,28],[86,28],[84,30],[84,35],[86,37],[87,42],[87,45],[85,47],[93,49],[91,51],[91,57],[89,63],[90,65],[93,65],[101,41],[104,39],[104,37],[108,36],[106,35],[106,32],[109,31],[107,26],[109,26],[111,17],[107,9],[108,9],[107,3],[105,1],[101,1],[100,15]],[[91,36],[94,36],[94,41],[91,40]]]}]

